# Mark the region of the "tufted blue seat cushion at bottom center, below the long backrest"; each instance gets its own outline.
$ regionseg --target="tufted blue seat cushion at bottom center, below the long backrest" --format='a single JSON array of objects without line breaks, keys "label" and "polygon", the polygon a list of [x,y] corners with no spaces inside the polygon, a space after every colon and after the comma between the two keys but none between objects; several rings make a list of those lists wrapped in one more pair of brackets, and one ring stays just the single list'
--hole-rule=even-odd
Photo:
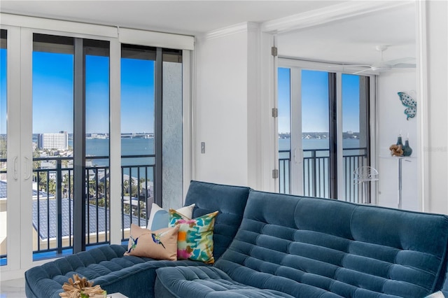
[{"label": "tufted blue seat cushion at bottom center, below the long backrest", "polygon": [[223,271],[213,267],[171,267],[156,271],[158,278],[155,282],[155,297],[293,297],[279,291],[237,283]]}]

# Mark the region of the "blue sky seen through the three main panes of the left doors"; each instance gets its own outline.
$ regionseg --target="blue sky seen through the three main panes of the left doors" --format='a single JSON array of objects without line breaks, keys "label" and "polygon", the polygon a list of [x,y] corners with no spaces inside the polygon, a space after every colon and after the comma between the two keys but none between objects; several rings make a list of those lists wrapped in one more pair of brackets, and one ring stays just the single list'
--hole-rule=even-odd
[{"label": "blue sky seen through the three main panes of the left doors", "polygon": [[[86,132],[109,132],[109,57],[86,57]],[[121,60],[122,132],[154,130],[154,62]],[[113,117],[113,115],[112,115]],[[33,133],[73,132],[73,55],[33,53]]]}]

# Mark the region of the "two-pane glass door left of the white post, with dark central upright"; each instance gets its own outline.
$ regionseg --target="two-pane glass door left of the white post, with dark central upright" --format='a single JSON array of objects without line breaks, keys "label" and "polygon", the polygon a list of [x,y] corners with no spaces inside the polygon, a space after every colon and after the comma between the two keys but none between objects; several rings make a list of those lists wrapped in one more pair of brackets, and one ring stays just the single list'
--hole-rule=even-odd
[{"label": "two-pane glass door left of the white post, with dark central upright", "polygon": [[34,256],[108,243],[109,41],[34,34],[32,61]]}]

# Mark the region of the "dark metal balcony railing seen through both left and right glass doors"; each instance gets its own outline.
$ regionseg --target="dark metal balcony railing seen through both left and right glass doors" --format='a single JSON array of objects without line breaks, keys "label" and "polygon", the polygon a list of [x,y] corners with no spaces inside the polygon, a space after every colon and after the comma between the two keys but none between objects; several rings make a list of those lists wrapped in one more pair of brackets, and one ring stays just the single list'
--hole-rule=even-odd
[{"label": "dark metal balcony railing seen through both left and right glass doors", "polygon": [[[353,171],[366,165],[367,148],[344,149],[346,201],[358,202],[362,190],[353,184]],[[109,157],[87,157],[92,163]],[[153,203],[155,155],[122,157],[122,240],[130,225],[146,225]],[[126,162],[128,160],[129,162]],[[328,197],[328,150],[304,150],[304,195]],[[6,162],[1,159],[0,162]],[[34,253],[63,253],[73,248],[73,157],[37,157],[34,162]],[[290,193],[290,150],[279,151],[280,192]],[[43,165],[44,163],[44,165]],[[6,171],[1,171],[6,173]],[[109,166],[86,166],[86,245],[109,243]],[[6,257],[1,255],[0,257]]]}]

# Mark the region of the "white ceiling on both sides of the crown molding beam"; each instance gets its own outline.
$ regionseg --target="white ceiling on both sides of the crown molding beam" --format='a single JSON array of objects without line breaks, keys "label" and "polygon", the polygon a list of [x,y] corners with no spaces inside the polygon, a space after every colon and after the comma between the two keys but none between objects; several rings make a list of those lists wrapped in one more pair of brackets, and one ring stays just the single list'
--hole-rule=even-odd
[{"label": "white ceiling on both sides of the crown molding beam", "polygon": [[[197,36],[241,22],[267,22],[347,1],[9,1],[0,11]],[[414,5],[280,34],[279,55],[326,62],[415,57]]]}]

